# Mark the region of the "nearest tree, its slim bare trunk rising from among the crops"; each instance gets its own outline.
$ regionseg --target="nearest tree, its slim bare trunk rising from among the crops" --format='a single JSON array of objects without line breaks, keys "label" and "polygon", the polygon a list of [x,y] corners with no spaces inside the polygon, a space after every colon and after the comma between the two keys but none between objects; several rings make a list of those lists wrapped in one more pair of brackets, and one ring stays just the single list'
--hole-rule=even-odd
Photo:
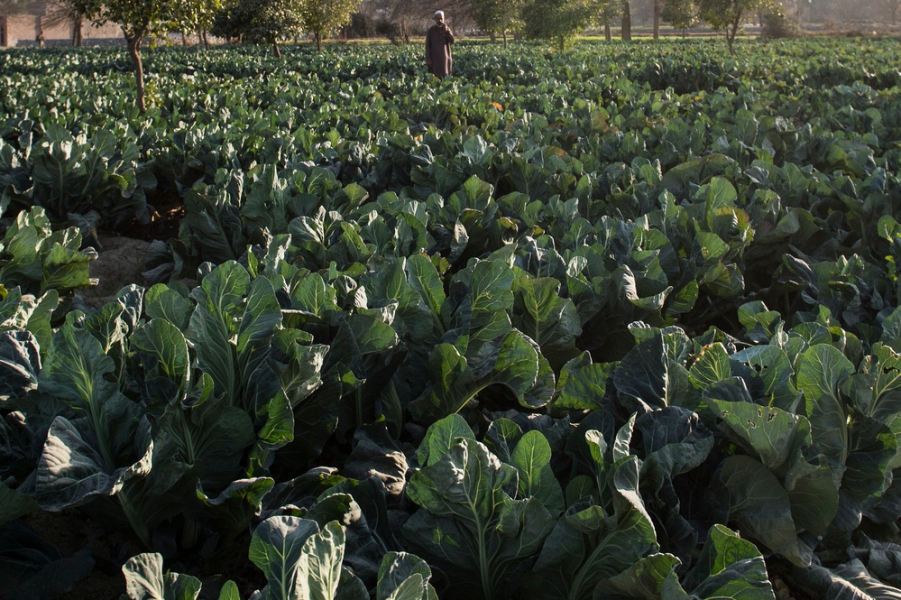
[{"label": "nearest tree, its slim bare trunk rising from among the crops", "polygon": [[128,54],[134,66],[134,81],[137,88],[136,103],[143,113],[147,106],[144,99],[144,69],[141,59],[141,44],[153,32],[163,32],[173,23],[184,23],[191,14],[204,5],[218,0],[70,0],[71,5],[85,14],[93,23],[103,25],[116,23],[122,27]]}]

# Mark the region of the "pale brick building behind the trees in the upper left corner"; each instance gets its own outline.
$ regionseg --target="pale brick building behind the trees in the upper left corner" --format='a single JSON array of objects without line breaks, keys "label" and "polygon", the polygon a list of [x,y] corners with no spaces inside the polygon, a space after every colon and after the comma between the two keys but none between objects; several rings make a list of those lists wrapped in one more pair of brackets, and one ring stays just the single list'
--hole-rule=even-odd
[{"label": "pale brick building behind the trees in the upper left corner", "polygon": [[[79,26],[65,7],[46,0],[23,4],[4,12],[0,2],[0,48],[37,46],[41,42],[44,46],[74,45]],[[84,21],[80,33],[86,46],[124,43],[122,29],[115,24],[96,27]]]}]

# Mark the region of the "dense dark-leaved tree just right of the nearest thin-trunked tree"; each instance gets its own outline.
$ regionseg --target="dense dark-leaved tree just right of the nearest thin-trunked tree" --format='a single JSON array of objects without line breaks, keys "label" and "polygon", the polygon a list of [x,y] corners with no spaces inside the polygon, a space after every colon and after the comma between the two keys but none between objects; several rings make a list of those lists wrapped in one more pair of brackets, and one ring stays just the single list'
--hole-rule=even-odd
[{"label": "dense dark-leaved tree just right of the nearest thin-trunked tree", "polygon": [[298,36],[299,3],[293,0],[232,0],[213,23],[214,35],[241,42],[271,44],[281,57],[279,40]]}]

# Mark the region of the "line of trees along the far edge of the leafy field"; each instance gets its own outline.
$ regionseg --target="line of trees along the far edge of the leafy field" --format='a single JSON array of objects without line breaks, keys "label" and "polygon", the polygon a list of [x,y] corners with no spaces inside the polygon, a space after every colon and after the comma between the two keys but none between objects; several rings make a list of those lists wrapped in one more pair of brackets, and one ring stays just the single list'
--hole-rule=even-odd
[{"label": "line of trees along the far edge of the leafy field", "polygon": [[[790,19],[800,20],[816,11],[864,6],[848,0],[0,0],[0,26],[5,31],[10,14],[42,10],[41,19],[75,23],[73,43],[80,45],[81,23],[119,25],[133,60],[136,105],[143,111],[141,48],[155,35],[197,32],[206,41],[210,32],[226,40],[270,44],[280,56],[279,42],[298,40],[301,35],[315,41],[317,49],[338,32],[410,42],[425,31],[435,9],[441,8],[458,32],[472,28],[501,37],[504,44],[511,35],[544,39],[563,49],[591,27],[601,28],[610,40],[616,23],[621,39],[630,40],[633,4],[649,9],[655,39],[661,23],[683,31],[705,23],[725,33],[731,52],[741,24],[749,17],[777,31]],[[901,0],[871,0],[870,8],[872,4],[881,6],[896,22]]]}]

